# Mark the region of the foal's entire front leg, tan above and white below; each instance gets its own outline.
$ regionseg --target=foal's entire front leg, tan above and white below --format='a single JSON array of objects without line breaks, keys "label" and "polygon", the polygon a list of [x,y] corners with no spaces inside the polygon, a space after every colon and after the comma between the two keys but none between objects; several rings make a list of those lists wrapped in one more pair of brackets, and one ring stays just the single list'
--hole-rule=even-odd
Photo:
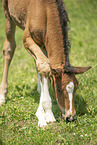
[{"label": "foal's entire front leg, tan above and white below", "polygon": [[34,56],[36,60],[36,66],[39,74],[39,91],[40,103],[36,116],[38,117],[38,125],[43,127],[47,125],[48,122],[55,121],[55,118],[52,113],[52,103],[49,95],[49,79],[48,74],[50,72],[50,63],[49,59],[44,55],[41,48],[34,42],[34,40],[29,35],[29,31],[26,29],[23,35],[24,46],[27,51]]}]

